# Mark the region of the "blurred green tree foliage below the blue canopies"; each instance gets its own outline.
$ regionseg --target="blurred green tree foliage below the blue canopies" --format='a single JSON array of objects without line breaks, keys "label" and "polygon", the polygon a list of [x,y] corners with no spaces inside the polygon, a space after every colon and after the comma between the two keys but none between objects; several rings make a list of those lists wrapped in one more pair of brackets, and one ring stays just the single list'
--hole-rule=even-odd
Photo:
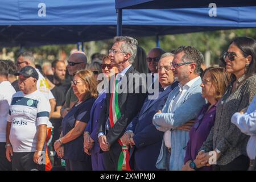
[{"label": "blurred green tree foliage below the blue canopies", "polygon": [[[211,64],[218,64],[218,60],[222,54],[222,51],[225,51],[228,48],[230,41],[236,36],[250,36],[251,38],[256,39],[256,28],[165,35],[159,36],[159,39],[160,47],[163,48],[165,51],[174,50],[181,45],[191,45],[199,49],[203,54],[206,51],[209,51]],[[137,39],[139,45],[143,47],[146,52],[150,51],[151,48],[156,47],[156,37],[154,36],[141,37]],[[88,55],[88,58],[90,60],[90,55],[95,52],[108,53],[108,49],[112,46],[112,43],[112,40],[86,42],[84,43],[85,53]],[[42,64],[45,60],[52,61],[55,59],[59,59],[60,51],[64,51],[68,56],[71,50],[75,48],[75,44],[49,45],[40,47],[23,47],[23,51],[32,51],[39,55],[37,57],[38,63]],[[7,52],[11,51],[14,52],[16,59],[16,56],[20,52],[20,48],[7,48]]]}]

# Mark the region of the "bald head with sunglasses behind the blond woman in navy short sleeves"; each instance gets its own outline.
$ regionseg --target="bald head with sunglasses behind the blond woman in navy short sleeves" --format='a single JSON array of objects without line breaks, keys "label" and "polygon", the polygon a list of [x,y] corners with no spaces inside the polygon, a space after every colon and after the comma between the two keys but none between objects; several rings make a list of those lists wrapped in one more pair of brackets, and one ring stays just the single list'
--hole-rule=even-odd
[{"label": "bald head with sunglasses behind the blond woman in navy short sleeves", "polygon": [[77,71],[85,69],[87,64],[87,57],[84,52],[73,52],[68,58],[68,73],[74,75]]}]

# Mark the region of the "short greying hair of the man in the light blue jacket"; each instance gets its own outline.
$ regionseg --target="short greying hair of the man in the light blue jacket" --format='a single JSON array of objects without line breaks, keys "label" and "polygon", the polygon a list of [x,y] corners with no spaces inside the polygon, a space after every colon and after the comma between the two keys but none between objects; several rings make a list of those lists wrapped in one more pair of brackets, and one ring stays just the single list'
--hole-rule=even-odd
[{"label": "short greying hair of the man in the light blue jacket", "polygon": [[177,50],[175,51],[175,55],[180,52],[184,52],[184,56],[182,56],[182,61],[184,62],[184,60],[187,60],[187,61],[191,61],[192,63],[196,63],[195,72],[197,74],[200,74],[201,64],[204,61],[203,54],[199,50],[197,50],[195,47],[192,47],[192,46],[178,47]]}]

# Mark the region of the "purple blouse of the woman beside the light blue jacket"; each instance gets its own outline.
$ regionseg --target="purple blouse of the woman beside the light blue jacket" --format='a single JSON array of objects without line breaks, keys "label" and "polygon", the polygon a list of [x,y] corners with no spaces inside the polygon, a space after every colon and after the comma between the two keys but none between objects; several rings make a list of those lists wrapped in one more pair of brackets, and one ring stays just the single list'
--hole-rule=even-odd
[{"label": "purple blouse of the woman beside the light blue jacket", "polygon": [[[207,112],[207,109],[210,106],[210,104],[204,105],[199,115],[197,116],[195,124],[192,126],[191,130],[189,131],[189,140],[186,148],[184,164],[188,160],[196,159],[196,156],[202,144],[207,139],[210,133],[210,129],[212,129],[214,125],[217,103],[213,105],[210,108],[210,110],[208,110],[208,112]],[[212,167],[205,166],[205,167],[199,168],[199,170],[209,171],[209,170],[212,170]]]}]

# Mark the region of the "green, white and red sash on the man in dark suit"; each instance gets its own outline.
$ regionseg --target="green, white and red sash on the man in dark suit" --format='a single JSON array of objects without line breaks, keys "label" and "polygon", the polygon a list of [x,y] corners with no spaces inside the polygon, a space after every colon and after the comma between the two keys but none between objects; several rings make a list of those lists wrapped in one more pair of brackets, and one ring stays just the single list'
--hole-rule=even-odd
[{"label": "green, white and red sash on the man in dark suit", "polygon": [[[115,75],[114,84],[111,88],[111,97],[110,97],[110,107],[109,107],[109,121],[110,121],[110,127],[113,127],[115,122],[121,117],[121,112],[119,110],[118,105],[118,80],[117,80],[117,74]],[[118,171],[127,170],[130,171],[129,166],[129,151],[128,148],[123,145],[120,139],[118,139],[118,143],[122,146],[122,152],[119,155],[118,160]]]}]

